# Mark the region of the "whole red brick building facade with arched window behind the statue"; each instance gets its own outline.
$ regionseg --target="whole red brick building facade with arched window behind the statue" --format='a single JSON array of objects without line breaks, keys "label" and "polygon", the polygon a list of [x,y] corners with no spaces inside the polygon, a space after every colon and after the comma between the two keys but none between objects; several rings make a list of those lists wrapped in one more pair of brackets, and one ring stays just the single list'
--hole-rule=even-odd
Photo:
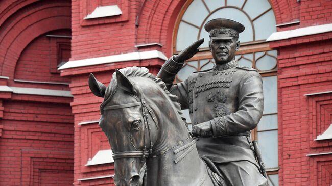
[{"label": "whole red brick building facade with arched window behind the statue", "polygon": [[205,38],[176,81],[211,68],[213,18],[243,23],[239,63],[263,77],[258,140],[271,185],[332,182],[332,1],[61,0],[0,2],[0,185],[112,185],[111,150],[98,126],[115,69],[156,74]]}]

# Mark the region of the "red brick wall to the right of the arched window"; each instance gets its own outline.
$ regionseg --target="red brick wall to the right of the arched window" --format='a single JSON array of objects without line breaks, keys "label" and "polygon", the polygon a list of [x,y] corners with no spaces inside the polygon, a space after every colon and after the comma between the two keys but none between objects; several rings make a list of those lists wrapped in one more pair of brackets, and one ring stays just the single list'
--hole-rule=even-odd
[{"label": "red brick wall to the right of the arched window", "polygon": [[[301,1],[302,28],[332,23],[331,1]],[[297,12],[296,12],[297,14]],[[282,21],[281,21],[282,22]],[[314,141],[331,124],[332,33],[302,36],[270,43],[278,49],[279,185],[330,185],[331,140]]]}]

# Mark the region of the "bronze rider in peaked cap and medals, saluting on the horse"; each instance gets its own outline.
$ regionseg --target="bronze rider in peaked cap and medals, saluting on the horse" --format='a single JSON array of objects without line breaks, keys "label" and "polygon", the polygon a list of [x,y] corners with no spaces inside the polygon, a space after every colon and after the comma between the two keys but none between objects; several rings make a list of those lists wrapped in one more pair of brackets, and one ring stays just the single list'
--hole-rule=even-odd
[{"label": "bronze rider in peaked cap and medals, saluting on the horse", "polygon": [[173,85],[185,60],[193,57],[204,42],[200,39],[162,66],[157,77],[188,109],[199,155],[226,185],[267,185],[260,173],[251,139],[263,114],[263,83],[257,70],[238,65],[235,51],[244,26],[229,19],[208,21],[209,49],[214,67],[197,71]]}]

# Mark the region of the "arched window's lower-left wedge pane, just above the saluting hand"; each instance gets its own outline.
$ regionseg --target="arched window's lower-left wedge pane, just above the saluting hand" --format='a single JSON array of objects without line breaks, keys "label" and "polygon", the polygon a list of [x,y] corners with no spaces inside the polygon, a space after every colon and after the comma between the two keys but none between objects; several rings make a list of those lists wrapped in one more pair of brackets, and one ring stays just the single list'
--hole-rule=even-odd
[{"label": "arched window's lower-left wedge pane, just above the saluting hand", "polygon": [[176,37],[176,50],[181,51],[197,40],[198,29],[181,21]]}]

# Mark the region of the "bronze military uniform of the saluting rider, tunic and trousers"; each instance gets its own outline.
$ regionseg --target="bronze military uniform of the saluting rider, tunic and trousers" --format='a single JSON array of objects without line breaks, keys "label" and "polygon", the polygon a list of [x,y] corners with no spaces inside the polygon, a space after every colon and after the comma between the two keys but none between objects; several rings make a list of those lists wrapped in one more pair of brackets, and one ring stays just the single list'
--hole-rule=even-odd
[{"label": "bronze military uniform of the saluting rider, tunic and trousers", "polygon": [[[229,179],[229,185],[266,185],[250,144],[250,130],[257,126],[264,105],[262,77],[257,70],[233,60],[219,69],[215,66],[194,72],[173,85],[172,71],[178,68],[177,64],[180,63],[169,59],[159,75],[171,77],[163,80],[170,92],[179,97],[182,109],[189,110],[193,125],[211,122],[212,136],[196,142],[200,156],[217,165],[222,176]],[[239,176],[250,180],[241,183],[245,178]]]}]

